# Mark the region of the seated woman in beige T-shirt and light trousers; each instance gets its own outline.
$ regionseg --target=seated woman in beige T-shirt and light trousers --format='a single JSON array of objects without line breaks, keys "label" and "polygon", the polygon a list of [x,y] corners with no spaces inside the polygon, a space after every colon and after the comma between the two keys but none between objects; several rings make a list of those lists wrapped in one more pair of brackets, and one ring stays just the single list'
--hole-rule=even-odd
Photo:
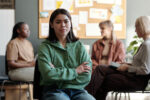
[{"label": "seated woman in beige T-shirt and light trousers", "polygon": [[34,51],[32,44],[26,39],[30,35],[28,24],[17,23],[13,35],[7,45],[8,76],[15,81],[33,81]]}]

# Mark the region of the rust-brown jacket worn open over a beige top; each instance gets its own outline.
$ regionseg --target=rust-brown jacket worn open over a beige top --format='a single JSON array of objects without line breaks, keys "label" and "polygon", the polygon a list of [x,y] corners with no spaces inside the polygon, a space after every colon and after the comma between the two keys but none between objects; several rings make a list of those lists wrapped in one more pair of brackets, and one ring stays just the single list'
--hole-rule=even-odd
[{"label": "rust-brown jacket worn open over a beige top", "polygon": [[[109,65],[112,61],[122,63],[125,59],[125,49],[124,45],[120,40],[116,40],[116,43],[110,42],[110,50],[108,53],[108,61],[107,65]],[[93,63],[93,70],[96,66],[101,64],[102,52],[104,50],[104,40],[99,39],[97,40],[92,47],[92,63]]]}]

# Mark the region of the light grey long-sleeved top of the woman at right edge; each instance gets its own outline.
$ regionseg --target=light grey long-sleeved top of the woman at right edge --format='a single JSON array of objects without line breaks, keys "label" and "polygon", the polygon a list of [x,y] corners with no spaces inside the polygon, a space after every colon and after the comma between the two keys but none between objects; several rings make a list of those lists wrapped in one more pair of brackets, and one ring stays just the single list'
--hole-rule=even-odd
[{"label": "light grey long-sleeved top of the woman at right edge", "polygon": [[132,66],[128,68],[128,72],[134,72],[137,75],[150,74],[150,38],[140,45],[133,57]]}]

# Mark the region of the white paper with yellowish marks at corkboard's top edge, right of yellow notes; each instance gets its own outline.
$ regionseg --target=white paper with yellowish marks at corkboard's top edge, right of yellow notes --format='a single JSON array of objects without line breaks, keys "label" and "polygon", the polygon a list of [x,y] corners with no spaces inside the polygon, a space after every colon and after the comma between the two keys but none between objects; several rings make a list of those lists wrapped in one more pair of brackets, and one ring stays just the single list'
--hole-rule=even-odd
[{"label": "white paper with yellowish marks at corkboard's top edge, right of yellow notes", "polygon": [[90,7],[93,6],[93,0],[75,0],[76,7]]}]

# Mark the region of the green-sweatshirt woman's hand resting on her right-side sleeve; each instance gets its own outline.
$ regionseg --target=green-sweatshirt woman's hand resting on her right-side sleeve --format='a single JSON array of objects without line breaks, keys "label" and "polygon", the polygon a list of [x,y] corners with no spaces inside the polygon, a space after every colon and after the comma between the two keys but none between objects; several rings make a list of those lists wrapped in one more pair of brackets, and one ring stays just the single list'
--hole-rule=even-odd
[{"label": "green-sweatshirt woman's hand resting on her right-side sleeve", "polygon": [[88,62],[83,62],[81,65],[79,65],[76,68],[76,72],[78,74],[81,74],[83,72],[89,72],[91,70],[91,67],[87,66],[86,64],[88,64]]}]

